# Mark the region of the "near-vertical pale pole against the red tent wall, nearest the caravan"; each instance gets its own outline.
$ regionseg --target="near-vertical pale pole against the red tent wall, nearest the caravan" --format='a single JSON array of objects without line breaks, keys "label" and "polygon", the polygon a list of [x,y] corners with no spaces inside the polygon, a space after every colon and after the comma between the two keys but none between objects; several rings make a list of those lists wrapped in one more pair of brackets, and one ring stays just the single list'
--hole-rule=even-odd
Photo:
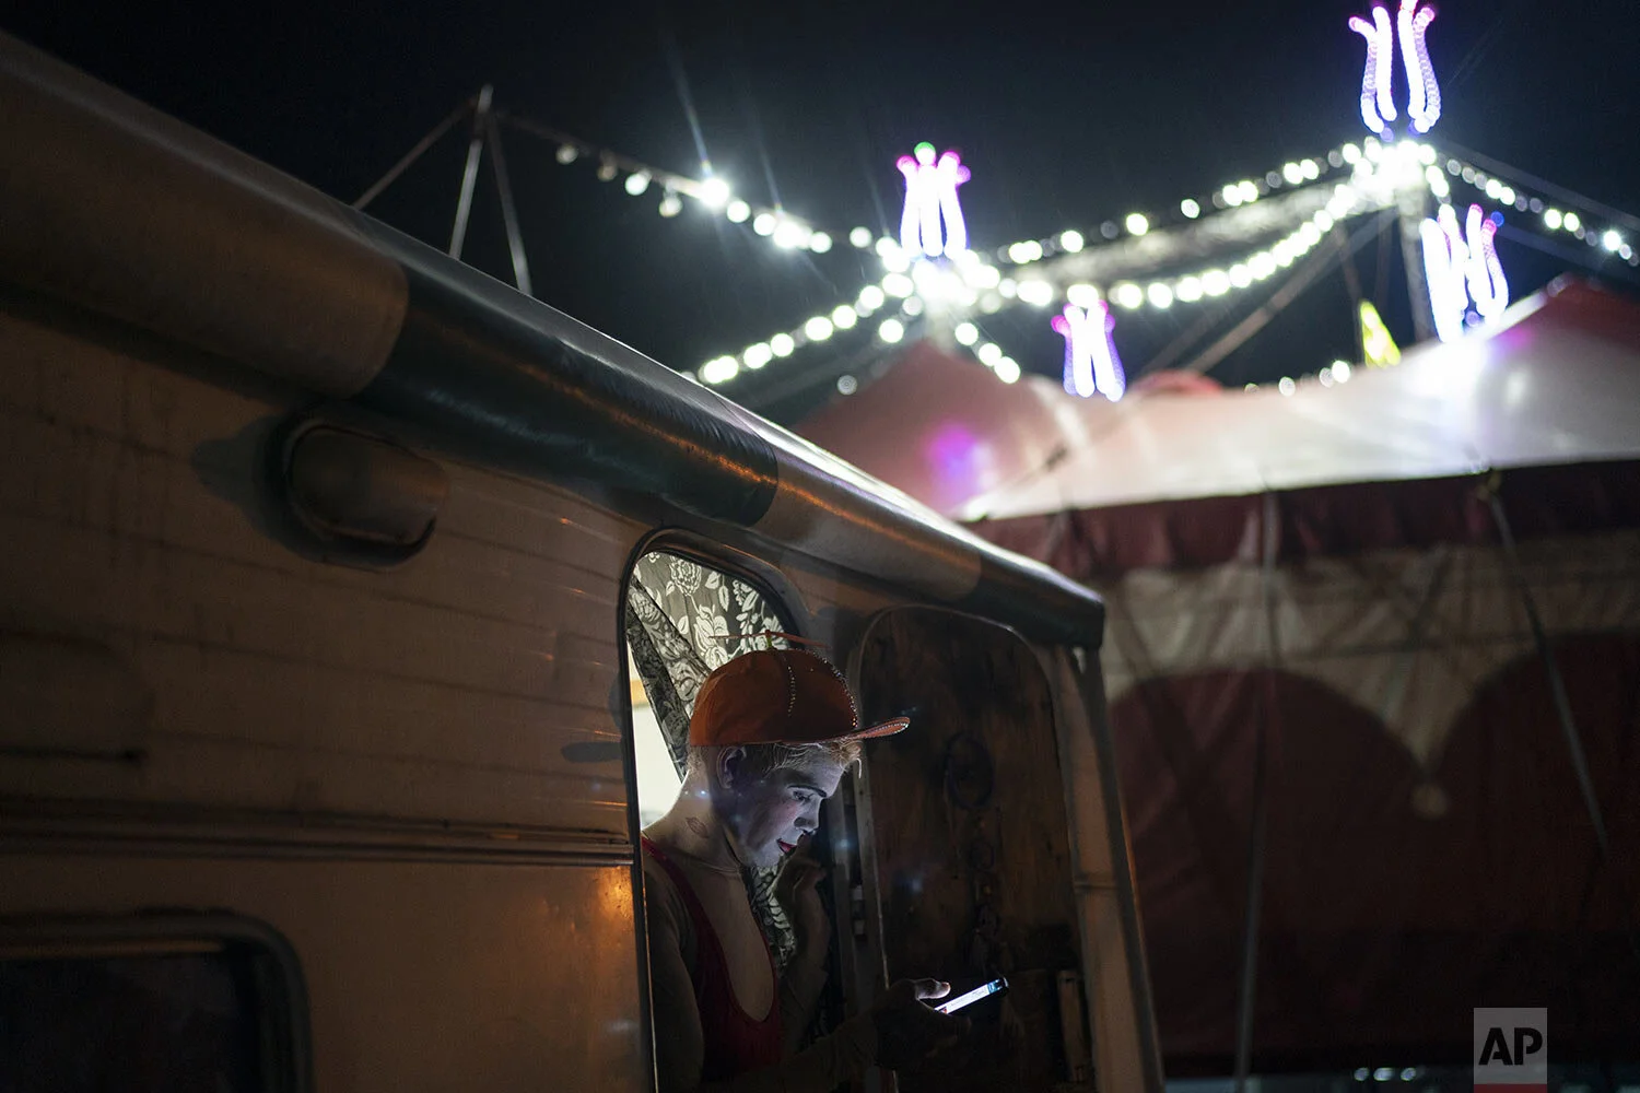
[{"label": "near-vertical pale pole against the red tent wall, nearest the caravan", "polygon": [[1253,823],[1246,849],[1246,921],[1241,931],[1241,988],[1237,1000],[1235,1090],[1246,1093],[1253,1068],[1253,1014],[1258,1008],[1258,927],[1264,909],[1264,834],[1269,819],[1269,724],[1278,716],[1276,665],[1276,554],[1281,549],[1281,513],[1276,495],[1264,495],[1263,574],[1264,596],[1264,711],[1253,742]]}]

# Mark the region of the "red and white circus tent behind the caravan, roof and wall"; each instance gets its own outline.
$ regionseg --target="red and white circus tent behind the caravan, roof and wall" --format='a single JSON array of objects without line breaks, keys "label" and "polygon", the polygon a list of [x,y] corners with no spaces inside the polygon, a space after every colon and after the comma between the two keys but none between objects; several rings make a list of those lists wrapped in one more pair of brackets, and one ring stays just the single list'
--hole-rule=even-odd
[{"label": "red and white circus tent behind the caravan, roof and wall", "polygon": [[1640,306],[1566,282],[1346,383],[1141,388],[922,344],[799,431],[1105,595],[1169,1070],[1228,1068],[1253,875],[1260,1068],[1461,1065],[1487,1005],[1632,1054]]}]

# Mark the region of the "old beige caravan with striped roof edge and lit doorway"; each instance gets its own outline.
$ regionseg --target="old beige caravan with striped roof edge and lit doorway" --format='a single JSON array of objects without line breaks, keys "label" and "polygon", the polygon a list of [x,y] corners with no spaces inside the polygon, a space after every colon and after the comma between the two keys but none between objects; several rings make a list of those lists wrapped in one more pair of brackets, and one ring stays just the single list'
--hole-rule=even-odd
[{"label": "old beige caravan with striped roof edge and lit doorway", "polygon": [[0,1086],[653,1088],[704,619],[917,721],[822,1019],[1005,973],[900,1088],[1159,1091],[1091,592],[10,39],[0,111]]}]

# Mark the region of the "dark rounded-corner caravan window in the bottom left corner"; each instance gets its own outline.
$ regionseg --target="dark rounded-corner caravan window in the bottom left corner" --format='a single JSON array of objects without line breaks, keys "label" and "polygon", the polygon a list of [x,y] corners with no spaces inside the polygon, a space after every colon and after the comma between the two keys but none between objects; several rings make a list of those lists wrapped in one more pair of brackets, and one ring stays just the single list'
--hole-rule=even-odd
[{"label": "dark rounded-corner caravan window in the bottom left corner", "polygon": [[246,939],[0,942],[0,1090],[307,1088],[289,960]]}]

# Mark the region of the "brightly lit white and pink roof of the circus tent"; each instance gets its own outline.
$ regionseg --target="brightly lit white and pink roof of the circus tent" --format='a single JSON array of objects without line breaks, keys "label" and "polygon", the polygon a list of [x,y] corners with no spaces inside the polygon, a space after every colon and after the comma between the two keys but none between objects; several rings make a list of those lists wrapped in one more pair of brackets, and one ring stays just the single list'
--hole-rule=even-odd
[{"label": "brightly lit white and pink roof of the circus tent", "polygon": [[1084,400],[925,344],[799,431],[959,519],[1633,459],[1640,308],[1558,283],[1463,341],[1292,395]]}]

